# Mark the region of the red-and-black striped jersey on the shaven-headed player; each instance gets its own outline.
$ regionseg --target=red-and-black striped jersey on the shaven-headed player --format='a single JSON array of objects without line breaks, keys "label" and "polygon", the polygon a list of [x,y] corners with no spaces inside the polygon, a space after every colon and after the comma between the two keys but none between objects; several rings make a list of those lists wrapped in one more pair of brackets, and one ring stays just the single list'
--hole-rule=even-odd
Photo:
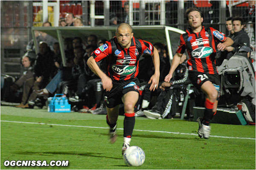
[{"label": "red-and-black striped jersey on the shaven-headed player", "polygon": [[106,58],[108,76],[119,81],[137,77],[140,56],[143,53],[153,54],[153,51],[154,47],[150,42],[133,37],[131,46],[122,48],[116,37],[113,37],[106,44],[93,51],[92,56],[96,62]]}]

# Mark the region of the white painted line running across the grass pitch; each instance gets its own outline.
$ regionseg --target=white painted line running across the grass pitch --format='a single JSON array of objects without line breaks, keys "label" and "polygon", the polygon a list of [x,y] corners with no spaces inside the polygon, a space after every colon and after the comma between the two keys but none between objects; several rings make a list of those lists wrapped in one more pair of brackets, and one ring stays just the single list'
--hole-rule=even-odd
[{"label": "white painted line running across the grass pitch", "polygon": [[[98,129],[108,129],[108,127],[94,127],[94,126],[78,126],[78,125],[60,125],[60,124],[49,124],[49,123],[36,123],[36,122],[17,122],[17,121],[9,121],[9,120],[1,120],[1,122],[12,122],[12,123],[26,123],[26,124],[36,124],[36,125],[54,125],[54,126],[68,126],[68,127],[87,127],[87,128],[98,128]],[[123,130],[123,128],[117,128],[118,130]],[[193,135],[198,136],[195,133],[179,133],[179,132],[168,132],[168,131],[158,131],[158,130],[138,130],[134,129],[134,131],[141,132],[157,132],[157,133],[171,133],[171,134],[179,134],[179,135]],[[228,138],[228,139],[251,139],[255,140],[255,138],[240,138],[240,137],[229,137],[229,136],[211,136],[216,138]]]}]

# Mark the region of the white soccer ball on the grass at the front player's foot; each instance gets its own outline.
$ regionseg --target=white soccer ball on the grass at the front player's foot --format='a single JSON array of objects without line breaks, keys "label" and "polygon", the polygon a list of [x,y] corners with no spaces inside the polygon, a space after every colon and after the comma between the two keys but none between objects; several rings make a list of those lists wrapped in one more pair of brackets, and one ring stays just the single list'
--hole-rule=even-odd
[{"label": "white soccer ball on the grass at the front player's foot", "polygon": [[144,163],[145,153],[140,147],[131,146],[125,150],[123,159],[125,164],[127,164],[129,167],[138,167]]}]

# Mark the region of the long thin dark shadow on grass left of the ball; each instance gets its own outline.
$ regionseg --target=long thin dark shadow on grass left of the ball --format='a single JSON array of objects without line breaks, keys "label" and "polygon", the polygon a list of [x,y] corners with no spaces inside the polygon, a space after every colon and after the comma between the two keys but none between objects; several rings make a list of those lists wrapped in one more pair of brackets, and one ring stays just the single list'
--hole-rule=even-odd
[{"label": "long thin dark shadow on grass left of the ball", "polygon": [[90,157],[98,157],[98,158],[122,159],[122,158],[115,158],[115,157],[110,157],[110,156],[101,156],[102,153],[79,153],[79,152],[17,152],[17,154],[21,154],[21,155],[44,155],[44,154],[52,154],[52,155],[79,155],[79,156],[90,156]]}]

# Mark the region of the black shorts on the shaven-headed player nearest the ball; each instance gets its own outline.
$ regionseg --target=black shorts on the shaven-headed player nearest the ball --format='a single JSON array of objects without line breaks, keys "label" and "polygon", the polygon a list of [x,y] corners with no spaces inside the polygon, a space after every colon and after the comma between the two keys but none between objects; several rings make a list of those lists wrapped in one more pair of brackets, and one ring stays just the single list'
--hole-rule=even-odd
[{"label": "black shorts on the shaven-headed player nearest the ball", "polygon": [[108,108],[113,108],[122,103],[122,96],[129,91],[139,93],[139,79],[129,79],[127,81],[113,80],[113,88],[111,91],[105,91],[105,103]]}]

